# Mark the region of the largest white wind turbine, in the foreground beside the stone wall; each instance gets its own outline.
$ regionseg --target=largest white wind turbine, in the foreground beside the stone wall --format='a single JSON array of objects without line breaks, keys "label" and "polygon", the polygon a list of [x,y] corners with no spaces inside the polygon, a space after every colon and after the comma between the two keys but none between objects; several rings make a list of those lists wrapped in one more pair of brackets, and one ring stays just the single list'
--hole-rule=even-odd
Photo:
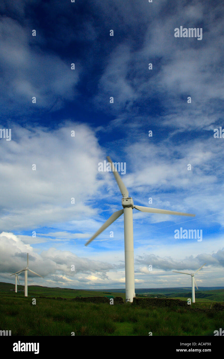
[{"label": "largest white wind turbine, in the foreground beside the stone wall", "polygon": [[123,209],[114,212],[108,220],[97,230],[95,234],[85,244],[87,246],[94,238],[99,236],[103,230],[105,230],[111,223],[118,219],[124,213],[124,260],[125,260],[125,297],[126,302],[133,302],[135,297],[134,292],[134,243],[133,243],[133,214],[132,210],[135,208],[141,212],[148,213],[162,213],[162,214],[175,214],[181,216],[195,216],[195,214],[182,213],[169,211],[165,209],[149,208],[142,206],[134,206],[132,197],[129,197],[128,190],[125,187],[122,179],[117,171],[115,171],[114,163],[111,158],[107,157],[107,160],[111,164],[112,171],[114,173],[115,180],[118,184],[120,192],[122,194],[122,206]]}]

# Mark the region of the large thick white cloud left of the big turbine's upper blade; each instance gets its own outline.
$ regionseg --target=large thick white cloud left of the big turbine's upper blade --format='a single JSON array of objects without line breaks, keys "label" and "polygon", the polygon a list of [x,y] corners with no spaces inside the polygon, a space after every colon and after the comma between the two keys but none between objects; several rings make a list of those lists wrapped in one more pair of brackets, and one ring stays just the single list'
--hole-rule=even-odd
[{"label": "large thick white cloud left of the big turbine's upper blade", "polygon": [[15,126],[12,140],[2,143],[0,154],[1,228],[33,229],[96,213],[84,204],[104,182],[104,177],[96,180],[102,154],[89,127],[67,123],[49,132]]}]

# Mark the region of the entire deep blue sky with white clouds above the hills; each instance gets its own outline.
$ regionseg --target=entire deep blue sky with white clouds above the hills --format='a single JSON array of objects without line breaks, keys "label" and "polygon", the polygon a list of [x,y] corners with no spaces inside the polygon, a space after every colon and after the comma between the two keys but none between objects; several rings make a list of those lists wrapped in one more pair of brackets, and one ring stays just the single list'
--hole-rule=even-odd
[{"label": "entire deep blue sky with white clouds above the hills", "polygon": [[216,0],[1,1],[0,281],[28,252],[29,285],[125,288],[123,215],[84,246],[122,209],[110,156],[134,205],[195,214],[133,210],[136,288],[224,286],[223,35]]}]

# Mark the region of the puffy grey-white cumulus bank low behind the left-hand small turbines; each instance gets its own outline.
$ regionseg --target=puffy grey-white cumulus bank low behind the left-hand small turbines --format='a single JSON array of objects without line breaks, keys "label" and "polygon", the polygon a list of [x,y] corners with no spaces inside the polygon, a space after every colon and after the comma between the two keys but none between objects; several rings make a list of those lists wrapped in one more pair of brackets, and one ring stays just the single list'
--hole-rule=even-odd
[{"label": "puffy grey-white cumulus bank low behind the left-hand small turbines", "polygon": [[[13,233],[0,234],[0,272],[6,276],[6,272],[17,272],[26,265],[27,252],[29,253],[29,268],[44,276],[40,279],[29,273],[29,277],[35,277],[37,283],[44,285],[46,280],[73,283],[77,281],[77,274],[89,274],[89,280],[102,280],[106,278],[106,272],[113,269],[113,265],[102,261],[78,257],[70,251],[60,251],[49,248],[38,254],[29,244],[24,244]],[[72,266],[75,271],[72,271]],[[91,273],[97,273],[95,276]]]}]

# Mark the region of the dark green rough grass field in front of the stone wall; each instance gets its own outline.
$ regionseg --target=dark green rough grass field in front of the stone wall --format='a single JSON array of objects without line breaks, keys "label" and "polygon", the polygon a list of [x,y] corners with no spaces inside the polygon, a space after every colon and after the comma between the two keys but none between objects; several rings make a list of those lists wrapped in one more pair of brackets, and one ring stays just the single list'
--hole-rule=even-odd
[{"label": "dark green rough grass field in front of the stone wall", "polygon": [[[195,303],[192,307],[207,306]],[[191,312],[181,307],[140,308],[56,299],[0,295],[0,330],[13,336],[186,336],[208,335],[224,322],[223,312]]]}]

